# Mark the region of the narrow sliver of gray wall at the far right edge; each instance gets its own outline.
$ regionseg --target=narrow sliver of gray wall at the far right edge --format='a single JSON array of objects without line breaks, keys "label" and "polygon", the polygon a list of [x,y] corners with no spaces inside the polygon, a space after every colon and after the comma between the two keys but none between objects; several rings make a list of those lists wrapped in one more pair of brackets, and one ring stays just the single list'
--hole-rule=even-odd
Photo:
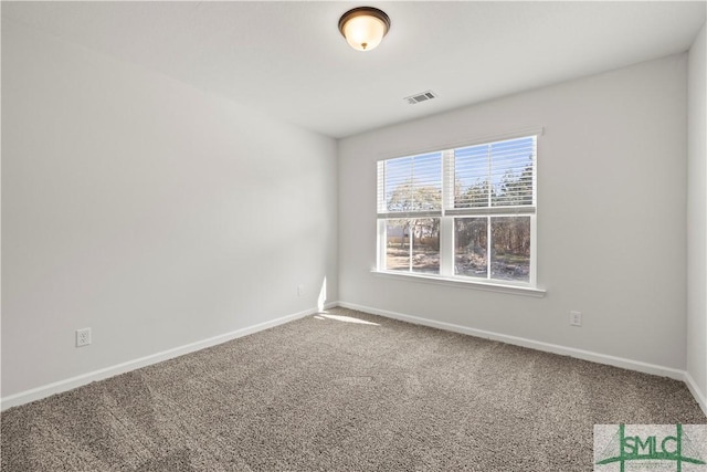
[{"label": "narrow sliver of gray wall at the far right edge", "polygon": [[707,407],[707,49],[703,27],[689,51],[687,108],[687,371],[695,380],[703,408]]}]

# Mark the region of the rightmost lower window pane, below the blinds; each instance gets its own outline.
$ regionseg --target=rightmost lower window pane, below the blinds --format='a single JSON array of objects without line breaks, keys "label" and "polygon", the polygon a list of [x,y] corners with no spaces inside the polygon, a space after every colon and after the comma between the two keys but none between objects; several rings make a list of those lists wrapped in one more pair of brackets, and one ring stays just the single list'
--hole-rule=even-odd
[{"label": "rightmost lower window pane, below the blinds", "polygon": [[493,217],[490,276],[530,281],[530,217]]}]

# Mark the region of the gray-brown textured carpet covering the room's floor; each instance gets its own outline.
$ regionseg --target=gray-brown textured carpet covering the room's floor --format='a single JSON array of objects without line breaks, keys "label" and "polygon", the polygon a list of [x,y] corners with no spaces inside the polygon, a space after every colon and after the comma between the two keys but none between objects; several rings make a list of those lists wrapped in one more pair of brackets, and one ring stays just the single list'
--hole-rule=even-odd
[{"label": "gray-brown textured carpet covering the room's floor", "polygon": [[679,381],[329,315],[9,409],[2,471],[591,471],[594,423],[707,422]]}]

